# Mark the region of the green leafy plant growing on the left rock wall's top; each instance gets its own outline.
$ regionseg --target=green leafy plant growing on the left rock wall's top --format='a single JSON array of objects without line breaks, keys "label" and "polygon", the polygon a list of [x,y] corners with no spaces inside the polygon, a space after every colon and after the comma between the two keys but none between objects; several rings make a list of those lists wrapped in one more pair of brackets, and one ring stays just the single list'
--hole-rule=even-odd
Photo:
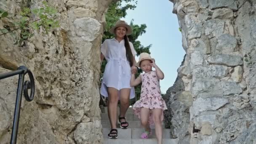
[{"label": "green leafy plant growing on the left rock wall's top", "polygon": [[[11,34],[13,38],[16,40],[16,44],[20,44],[24,40],[28,40],[29,38],[34,36],[33,30],[39,30],[43,28],[45,33],[48,33],[51,29],[59,27],[59,21],[57,21],[57,10],[48,5],[46,1],[43,1],[44,7],[35,8],[30,10],[30,8],[24,7],[20,12],[21,18],[19,21],[13,22],[10,26],[5,26],[4,29],[0,29],[0,35]],[[0,10],[1,18],[7,17],[8,12]],[[36,20],[30,19],[30,17],[36,17]],[[14,27],[14,29],[10,29],[10,27]],[[19,30],[19,34],[16,34],[14,31]]]}]

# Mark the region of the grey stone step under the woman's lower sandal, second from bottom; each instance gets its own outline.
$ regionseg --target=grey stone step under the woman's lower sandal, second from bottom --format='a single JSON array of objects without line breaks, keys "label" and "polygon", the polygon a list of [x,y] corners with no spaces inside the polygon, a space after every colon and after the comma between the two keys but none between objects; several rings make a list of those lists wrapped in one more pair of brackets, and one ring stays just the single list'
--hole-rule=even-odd
[{"label": "grey stone step under the woman's lower sandal, second from bottom", "polygon": [[[104,139],[108,138],[108,133],[110,132],[111,128],[103,128],[103,137]],[[141,133],[144,132],[144,128],[117,128],[118,131],[118,138],[119,139],[141,139]],[[170,129],[163,129],[163,139],[171,139]],[[155,139],[155,129],[152,129],[152,135],[149,136],[149,139]]]}]

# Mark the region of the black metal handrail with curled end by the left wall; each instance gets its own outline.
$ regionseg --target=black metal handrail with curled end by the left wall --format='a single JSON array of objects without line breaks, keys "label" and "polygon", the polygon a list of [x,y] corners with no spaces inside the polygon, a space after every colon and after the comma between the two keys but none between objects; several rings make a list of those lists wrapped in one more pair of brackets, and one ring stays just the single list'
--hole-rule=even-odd
[{"label": "black metal handrail with curled end by the left wall", "polygon": [[[29,75],[30,81],[25,81],[25,75]],[[18,127],[19,127],[19,114],[21,110],[21,98],[22,98],[22,89],[24,92],[24,97],[27,101],[32,101],[35,95],[35,81],[32,72],[27,69],[25,66],[19,67],[16,71],[13,72],[6,72],[4,74],[0,74],[0,80],[11,77],[14,75],[19,75],[19,82],[17,88],[17,96],[16,96],[16,104],[13,116],[13,128],[11,132],[11,144],[16,144],[17,141],[17,134],[18,134]],[[30,96],[28,93],[28,89],[30,89]]]}]

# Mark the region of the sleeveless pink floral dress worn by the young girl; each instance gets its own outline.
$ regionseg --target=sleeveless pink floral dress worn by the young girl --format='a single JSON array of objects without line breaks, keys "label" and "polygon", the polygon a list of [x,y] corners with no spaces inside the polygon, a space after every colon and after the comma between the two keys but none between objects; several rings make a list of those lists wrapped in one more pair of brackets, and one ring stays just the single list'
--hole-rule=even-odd
[{"label": "sleeveless pink floral dress worn by the young girl", "polygon": [[[133,110],[135,115],[141,118],[141,108],[148,109],[167,109],[165,101],[161,96],[160,83],[157,78],[155,71],[145,72],[140,75],[142,85],[141,85],[141,98],[139,101],[133,105]],[[161,115],[161,120],[163,121],[163,111]],[[149,124],[154,125],[154,119],[152,111],[149,114]]]}]

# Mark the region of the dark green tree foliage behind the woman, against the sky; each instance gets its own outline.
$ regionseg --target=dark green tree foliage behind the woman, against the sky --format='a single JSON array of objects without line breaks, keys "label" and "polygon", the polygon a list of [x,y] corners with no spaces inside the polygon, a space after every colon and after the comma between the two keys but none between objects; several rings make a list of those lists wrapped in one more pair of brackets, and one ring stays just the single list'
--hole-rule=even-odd
[{"label": "dark green tree foliage behind the woman, against the sky", "polygon": [[[122,3],[125,3],[125,5],[122,5]],[[104,42],[104,40],[111,39],[115,36],[109,32],[109,29],[111,29],[115,25],[116,21],[126,16],[127,14],[126,11],[128,9],[134,10],[134,8],[136,8],[136,4],[137,4],[137,1],[135,0],[120,0],[114,3],[111,3],[109,5],[108,11],[105,15],[107,26],[104,31],[102,43]],[[128,35],[128,39],[131,43],[133,43],[133,47],[137,52],[137,56],[139,56],[139,54],[143,52],[150,53],[149,48],[151,47],[151,45],[144,47],[143,45],[141,45],[141,42],[137,40],[139,36],[146,33],[146,28],[147,28],[146,24],[141,24],[141,25],[133,24],[133,20],[132,20],[130,23],[130,26],[133,29],[133,33],[132,35]],[[102,80],[103,72],[105,70],[106,64],[107,64],[107,61],[104,60],[101,65],[100,81]],[[141,69],[139,69],[139,72],[136,74],[136,77],[138,77],[141,74],[141,72],[142,72]],[[136,86],[135,91],[136,91],[136,96],[138,100],[140,97],[141,85]],[[133,104],[134,102],[135,102],[135,99],[131,100],[130,104]]]}]

